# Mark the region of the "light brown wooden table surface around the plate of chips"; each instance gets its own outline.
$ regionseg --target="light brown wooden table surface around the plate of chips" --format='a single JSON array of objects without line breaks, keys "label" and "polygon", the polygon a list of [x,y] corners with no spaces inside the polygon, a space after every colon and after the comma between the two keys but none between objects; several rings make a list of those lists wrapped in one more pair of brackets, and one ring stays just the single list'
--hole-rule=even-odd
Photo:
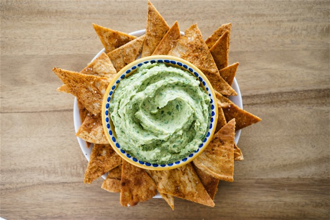
[{"label": "light brown wooden table surface around the plate of chips", "polygon": [[121,207],[83,183],[74,97],[52,67],[80,71],[102,49],[91,23],[144,29],[147,2],[1,1],[1,211],[6,219],[329,219],[329,1],[180,1],[154,6],[207,38],[232,22],[229,63],[244,109],[235,182],[214,208],[176,199]]}]

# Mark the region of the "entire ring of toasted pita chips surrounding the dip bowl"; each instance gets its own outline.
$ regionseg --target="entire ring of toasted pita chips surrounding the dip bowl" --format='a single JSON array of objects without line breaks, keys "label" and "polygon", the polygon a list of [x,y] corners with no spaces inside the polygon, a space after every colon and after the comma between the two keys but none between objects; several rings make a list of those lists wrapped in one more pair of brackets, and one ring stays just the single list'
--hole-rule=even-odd
[{"label": "entire ring of toasted pita chips surrounding the dip bowl", "polygon": [[[176,21],[172,27],[148,2],[145,35],[131,36],[93,24],[106,53],[102,53],[81,72],[53,68],[64,83],[57,90],[72,93],[78,100],[82,124],[77,136],[93,143],[84,182],[91,183],[108,173],[102,188],[120,192],[120,204],[133,206],[147,201],[158,192],[174,209],[174,197],[213,207],[219,180],[234,181],[234,161],[243,160],[235,144],[235,130],[261,119],[235,105],[228,96],[237,96],[232,88],[239,63],[228,66],[231,23],[221,25],[203,40],[197,24],[180,35]],[[218,102],[216,133],[207,148],[190,164],[153,171],[123,161],[109,144],[101,120],[101,107],[106,88],[116,73],[130,62],[149,55],[172,55],[199,68],[211,82]]]}]

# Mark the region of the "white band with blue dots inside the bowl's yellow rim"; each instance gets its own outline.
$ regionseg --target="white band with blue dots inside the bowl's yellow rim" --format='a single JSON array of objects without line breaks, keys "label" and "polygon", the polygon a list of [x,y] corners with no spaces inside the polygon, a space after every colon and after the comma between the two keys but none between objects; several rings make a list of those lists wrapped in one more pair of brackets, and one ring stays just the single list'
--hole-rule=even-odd
[{"label": "white band with blue dots inside the bowl's yellow rim", "polygon": [[174,163],[171,163],[171,164],[150,164],[148,162],[144,162],[144,161],[139,161],[138,159],[134,158],[134,156],[131,156],[129,153],[126,153],[125,150],[121,149],[120,148],[120,145],[116,142],[116,138],[114,136],[114,133],[113,133],[113,127],[112,125],[110,124],[110,121],[111,121],[111,118],[110,118],[110,114],[109,114],[109,104],[110,104],[110,101],[112,99],[112,96],[113,96],[113,93],[114,93],[114,89],[117,87],[117,85],[120,83],[120,81],[122,79],[124,79],[126,77],[126,75],[130,75],[132,73],[134,73],[135,70],[137,70],[138,67],[141,67],[143,64],[147,64],[148,62],[151,62],[151,63],[154,63],[154,62],[164,62],[166,64],[169,64],[171,66],[175,66],[175,67],[178,67],[178,68],[181,68],[182,70],[185,70],[185,71],[188,71],[190,72],[192,75],[194,75],[199,81],[201,81],[201,83],[204,85],[209,97],[211,98],[211,101],[210,103],[212,104],[214,102],[214,99],[215,97],[213,97],[212,93],[210,92],[211,89],[209,88],[209,85],[205,82],[205,80],[197,73],[193,70],[192,67],[188,67],[187,65],[185,64],[182,64],[181,62],[177,62],[175,60],[169,60],[169,59],[157,59],[157,60],[154,60],[154,59],[151,59],[151,60],[146,60],[144,62],[141,62],[131,68],[129,68],[124,74],[122,74],[120,77],[118,77],[118,79],[116,80],[116,82],[114,83],[114,85],[111,87],[111,91],[109,92],[108,94],[108,97],[107,97],[107,103],[106,103],[106,111],[105,111],[105,120],[106,120],[106,126],[107,126],[107,129],[108,129],[108,133],[112,139],[112,141],[115,143],[115,146],[120,150],[121,153],[123,153],[127,159],[133,161],[134,163],[136,164],[140,164],[140,165],[143,165],[143,166],[146,166],[146,167],[172,167],[174,164],[178,165],[180,163],[183,163],[183,162],[186,162],[187,160],[191,160],[191,158],[193,158],[193,156],[200,151],[200,149],[202,149],[203,147],[205,147],[205,142],[207,141],[207,138],[210,137],[211,135],[211,130],[212,128],[214,127],[214,121],[215,121],[215,112],[213,111],[213,109],[215,108],[214,105],[211,105],[211,108],[212,108],[212,113],[211,113],[211,124],[210,124],[210,129],[206,135],[206,138],[203,140],[203,143],[192,153],[190,153],[187,158],[184,158],[180,161],[176,161]]}]

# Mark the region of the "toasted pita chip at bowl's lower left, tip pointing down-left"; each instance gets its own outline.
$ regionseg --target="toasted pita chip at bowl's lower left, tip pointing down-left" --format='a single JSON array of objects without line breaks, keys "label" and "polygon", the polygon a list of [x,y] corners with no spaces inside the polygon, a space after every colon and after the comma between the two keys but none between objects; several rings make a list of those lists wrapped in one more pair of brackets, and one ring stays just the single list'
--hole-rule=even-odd
[{"label": "toasted pita chip at bowl's lower left, tip pointing down-left", "polygon": [[121,158],[110,144],[94,144],[85,172],[84,183],[91,183],[120,164]]}]

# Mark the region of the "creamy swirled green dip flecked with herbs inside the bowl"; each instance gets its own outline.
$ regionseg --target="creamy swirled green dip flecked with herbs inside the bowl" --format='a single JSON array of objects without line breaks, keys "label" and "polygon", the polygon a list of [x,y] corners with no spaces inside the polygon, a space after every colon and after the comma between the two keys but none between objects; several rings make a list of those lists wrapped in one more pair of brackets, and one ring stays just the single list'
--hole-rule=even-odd
[{"label": "creamy swirled green dip flecked with herbs inside the bowl", "polygon": [[200,81],[189,72],[148,63],[121,80],[109,110],[122,149],[140,161],[168,164],[202,143],[210,106]]}]

